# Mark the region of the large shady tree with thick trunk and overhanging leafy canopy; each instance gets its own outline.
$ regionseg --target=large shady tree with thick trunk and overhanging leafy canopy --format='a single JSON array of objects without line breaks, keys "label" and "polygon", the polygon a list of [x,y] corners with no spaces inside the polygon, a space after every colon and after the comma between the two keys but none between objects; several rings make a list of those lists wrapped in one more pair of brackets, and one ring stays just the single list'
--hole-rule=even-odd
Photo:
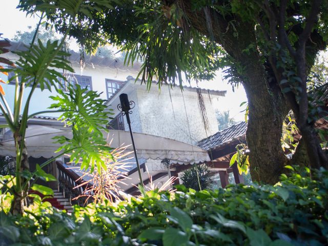
[{"label": "large shady tree with thick trunk and overhanging leafy canopy", "polygon": [[[249,100],[252,179],[275,183],[292,161],[280,142],[290,110],[304,142],[292,159],[305,153],[311,167],[328,166],[314,130],[318,107],[309,109],[306,87],[316,54],[327,45],[327,8],[319,0],[125,0],[115,10],[79,16],[70,34],[86,49],[110,42],[128,51],[128,64],[144,61],[139,77],[148,86],[155,77],[159,85],[182,85],[183,79],[207,79],[226,68],[227,78],[242,84]],[[47,16],[64,31],[60,14]]]}]

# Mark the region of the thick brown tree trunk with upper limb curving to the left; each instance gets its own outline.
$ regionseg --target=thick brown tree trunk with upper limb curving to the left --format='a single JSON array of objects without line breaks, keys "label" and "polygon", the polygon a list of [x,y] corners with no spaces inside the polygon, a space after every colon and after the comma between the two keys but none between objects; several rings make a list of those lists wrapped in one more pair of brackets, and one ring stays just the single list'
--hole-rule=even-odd
[{"label": "thick brown tree trunk with upper limb curving to the left", "polygon": [[[186,11],[187,10],[187,11]],[[205,35],[209,35],[206,16],[201,12],[195,14],[185,11],[191,25]],[[282,121],[289,112],[280,89],[274,83],[269,83],[260,54],[256,49],[249,49],[256,44],[255,27],[240,21],[236,25],[236,36],[233,28],[229,28],[229,17],[222,18],[216,12],[211,12],[212,27],[215,41],[222,45],[239,66],[239,76],[248,97],[249,120],[247,144],[250,150],[250,172],[252,180],[265,183],[279,181],[287,158],[281,148]],[[248,52],[245,50],[249,49]]]}]

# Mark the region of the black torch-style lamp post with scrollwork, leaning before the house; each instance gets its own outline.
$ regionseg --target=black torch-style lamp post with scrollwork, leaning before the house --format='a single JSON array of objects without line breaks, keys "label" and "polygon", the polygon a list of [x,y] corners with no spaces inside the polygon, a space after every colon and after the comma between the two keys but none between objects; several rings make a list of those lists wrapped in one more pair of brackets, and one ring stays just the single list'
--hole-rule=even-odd
[{"label": "black torch-style lamp post with scrollwork, leaning before the house", "polygon": [[129,114],[132,114],[131,109],[134,108],[135,103],[134,103],[134,101],[129,101],[128,95],[125,93],[122,93],[119,95],[119,101],[120,101],[120,104],[117,105],[117,109],[122,112],[122,115],[125,115],[127,117],[131,140],[132,140],[133,151],[134,151],[134,156],[135,156],[135,161],[137,163],[137,168],[138,168],[138,173],[139,173],[140,185],[141,185],[141,187],[144,187],[144,182],[142,181],[137,151],[136,151],[135,145],[134,145],[134,138],[133,138],[133,133],[132,133],[132,129],[131,129],[131,121],[130,121],[130,116],[129,116]]}]

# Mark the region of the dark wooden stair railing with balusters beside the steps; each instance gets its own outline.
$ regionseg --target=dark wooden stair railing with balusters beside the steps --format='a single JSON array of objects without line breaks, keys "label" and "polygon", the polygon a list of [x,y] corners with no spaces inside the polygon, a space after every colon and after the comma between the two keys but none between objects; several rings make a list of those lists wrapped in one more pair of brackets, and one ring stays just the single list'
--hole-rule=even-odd
[{"label": "dark wooden stair railing with balusters beside the steps", "polygon": [[[56,161],[58,169],[58,190],[63,191],[65,197],[68,197],[72,204],[78,204],[79,206],[85,206],[87,195],[85,191],[87,187],[92,186],[91,183],[81,179],[78,174],[69,169],[61,161]],[[89,199],[88,202],[91,202]]]}]

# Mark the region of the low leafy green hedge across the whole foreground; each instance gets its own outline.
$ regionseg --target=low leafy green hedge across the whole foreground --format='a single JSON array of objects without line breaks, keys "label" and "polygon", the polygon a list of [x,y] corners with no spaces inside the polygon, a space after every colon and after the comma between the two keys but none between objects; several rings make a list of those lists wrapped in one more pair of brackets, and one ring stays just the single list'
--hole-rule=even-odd
[{"label": "low leafy green hedge across the whole foreground", "polygon": [[325,245],[328,172],[282,176],[275,186],[143,192],[113,206],[75,212],[34,204],[0,213],[0,245]]}]

